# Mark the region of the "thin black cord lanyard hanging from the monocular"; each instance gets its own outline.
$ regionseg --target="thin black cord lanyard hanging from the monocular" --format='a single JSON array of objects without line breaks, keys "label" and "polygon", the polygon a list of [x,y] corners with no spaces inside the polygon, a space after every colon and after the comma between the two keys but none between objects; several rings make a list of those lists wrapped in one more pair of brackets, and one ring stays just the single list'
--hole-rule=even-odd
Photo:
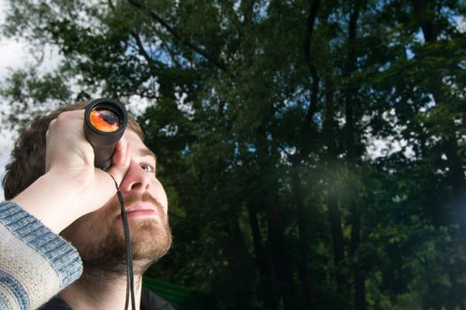
[{"label": "thin black cord lanyard hanging from the monocular", "polygon": [[[111,175],[111,174],[110,174]],[[118,183],[111,175],[113,182],[115,182],[115,186],[117,187],[117,197],[119,201],[119,205],[121,207],[121,221],[123,223],[123,233],[125,234],[126,240],[126,301],[125,301],[125,310],[128,309],[129,303],[129,296],[131,294],[131,308],[133,310],[136,309],[136,304],[134,302],[134,272],[133,272],[133,253],[131,252],[131,238],[129,236],[129,227],[128,227],[128,219],[126,218],[126,209],[125,204],[123,202],[123,196],[121,195],[121,191],[118,189]]]}]

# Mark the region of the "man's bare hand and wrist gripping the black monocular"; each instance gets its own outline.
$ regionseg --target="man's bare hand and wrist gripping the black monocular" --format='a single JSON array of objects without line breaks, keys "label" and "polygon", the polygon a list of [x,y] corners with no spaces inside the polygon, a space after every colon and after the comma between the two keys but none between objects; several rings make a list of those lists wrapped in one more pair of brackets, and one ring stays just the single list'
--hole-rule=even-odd
[{"label": "man's bare hand and wrist gripping the black monocular", "polygon": [[80,216],[104,205],[129,167],[131,148],[122,138],[108,173],[94,167],[94,151],[83,132],[84,110],[63,112],[46,134],[45,171],[13,199],[59,232]]}]

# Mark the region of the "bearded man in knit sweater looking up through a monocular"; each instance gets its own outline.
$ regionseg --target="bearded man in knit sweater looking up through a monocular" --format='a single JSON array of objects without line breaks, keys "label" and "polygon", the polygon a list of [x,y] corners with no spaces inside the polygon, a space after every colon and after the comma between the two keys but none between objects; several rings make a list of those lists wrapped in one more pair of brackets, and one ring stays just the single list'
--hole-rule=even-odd
[{"label": "bearded man in knit sweater looking up through a monocular", "polygon": [[[0,223],[13,231],[21,242],[27,243],[29,248],[32,247],[41,254],[35,261],[42,261],[45,257],[61,283],[51,285],[52,287],[49,287],[49,283],[49,286],[44,284],[43,292],[39,291],[39,295],[42,295],[37,297],[34,290],[41,287],[38,283],[44,282],[44,275],[33,278],[34,285],[31,287],[34,289],[28,290],[29,286],[19,281],[22,276],[26,276],[21,274],[21,269],[16,268],[5,274],[14,278],[14,281],[19,281],[23,287],[19,291],[27,295],[27,305],[31,307],[50,298],[48,295],[55,288],[59,291],[65,287],[43,309],[123,308],[126,301],[126,241],[114,179],[119,184],[118,189],[125,201],[131,233],[136,307],[172,309],[163,299],[141,289],[143,272],[164,256],[172,244],[167,220],[167,198],[156,177],[156,156],[142,142],[141,128],[130,119],[125,136],[116,145],[108,172],[95,168],[92,146],[82,130],[82,109],[85,106],[86,104],[71,105],[51,112],[36,118],[25,129],[19,136],[4,177],[5,198],[11,199],[11,202],[0,205]],[[4,210],[14,211],[4,215],[4,221],[2,207]],[[27,215],[22,214],[21,209]],[[24,233],[24,229],[20,230],[20,225],[11,221],[12,213],[34,222],[28,217],[33,215],[40,220],[39,224],[34,222],[34,227],[39,225],[39,229],[34,231],[39,231],[43,225],[51,232],[44,232],[40,238],[35,235],[31,237],[29,231]],[[18,218],[19,215],[15,217]],[[0,227],[0,236],[1,232]],[[76,262],[73,252],[66,248],[67,245],[60,244],[54,236],[50,236],[51,233],[59,233],[73,244],[82,260],[82,275],[69,286],[68,283],[80,274],[80,261],[78,259]],[[29,240],[32,238],[39,241],[30,244]],[[50,245],[52,242],[53,246]],[[63,256],[50,256],[53,253],[50,249],[59,249]],[[34,269],[34,264],[21,257],[21,253],[11,254],[9,251],[2,255],[6,256],[3,261],[24,260],[28,267]],[[44,269],[50,269],[47,263],[42,262]],[[0,275],[2,268],[4,267],[0,266]],[[32,273],[34,272],[40,274],[41,270],[33,270]],[[16,286],[10,287],[16,289]],[[18,296],[21,295],[16,295],[16,301],[11,298],[13,301],[10,303],[21,304],[26,300]],[[0,303],[0,307],[1,305]]]}]

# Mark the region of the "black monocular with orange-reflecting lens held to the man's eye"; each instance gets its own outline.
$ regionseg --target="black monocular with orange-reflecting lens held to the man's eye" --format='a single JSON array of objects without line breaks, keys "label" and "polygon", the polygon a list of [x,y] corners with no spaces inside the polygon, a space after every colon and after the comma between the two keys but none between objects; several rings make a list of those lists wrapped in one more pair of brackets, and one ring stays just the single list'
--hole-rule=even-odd
[{"label": "black monocular with orange-reflecting lens held to the man's eye", "polygon": [[91,101],[84,112],[84,135],[91,143],[94,166],[107,170],[115,145],[125,134],[128,114],[125,105],[110,98]]}]

